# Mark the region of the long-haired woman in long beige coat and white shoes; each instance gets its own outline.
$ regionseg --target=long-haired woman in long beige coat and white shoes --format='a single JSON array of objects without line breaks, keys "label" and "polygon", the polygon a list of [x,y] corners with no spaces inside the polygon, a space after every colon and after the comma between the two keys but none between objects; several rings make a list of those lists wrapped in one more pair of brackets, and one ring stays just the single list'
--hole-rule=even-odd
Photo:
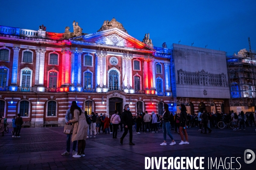
[{"label": "long-haired woman in long beige coat and white shoes", "polygon": [[85,156],[85,139],[87,137],[88,124],[86,122],[85,113],[82,112],[77,104],[72,104],[70,112],[73,116],[73,119],[69,120],[68,123],[74,124],[72,142],[78,141],[77,154],[73,155],[73,157],[80,158],[81,156]]}]

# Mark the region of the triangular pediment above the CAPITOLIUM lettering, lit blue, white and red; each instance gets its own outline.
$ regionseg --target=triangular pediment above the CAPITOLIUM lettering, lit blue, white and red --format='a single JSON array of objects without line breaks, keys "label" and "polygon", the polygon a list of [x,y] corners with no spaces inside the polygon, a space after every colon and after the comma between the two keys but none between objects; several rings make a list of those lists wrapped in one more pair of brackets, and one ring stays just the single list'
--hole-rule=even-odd
[{"label": "triangular pediment above the CAPITOLIUM lettering, lit blue, white and red", "polygon": [[127,33],[121,31],[118,28],[108,29],[93,34],[74,37],[71,38],[70,41],[71,43],[90,43],[91,45],[95,44],[95,46],[98,46],[99,44],[104,44],[106,46],[118,46],[131,49],[155,51],[150,46],[147,46],[145,43],[141,42],[140,40],[137,40],[136,38],[128,35]]}]

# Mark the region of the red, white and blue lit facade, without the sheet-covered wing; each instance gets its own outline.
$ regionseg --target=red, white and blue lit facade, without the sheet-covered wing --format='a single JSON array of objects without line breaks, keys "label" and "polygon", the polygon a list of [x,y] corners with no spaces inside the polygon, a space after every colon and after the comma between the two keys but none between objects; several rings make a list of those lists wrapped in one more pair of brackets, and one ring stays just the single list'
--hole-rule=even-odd
[{"label": "red, white and blue lit facade, without the sheet-covered wing", "polygon": [[125,104],[134,115],[162,114],[174,103],[170,60],[169,49],[154,47],[149,34],[135,39],[115,18],[92,34],[75,21],[64,33],[0,26],[0,115],[20,113],[30,127],[63,125],[72,101],[89,114]]}]

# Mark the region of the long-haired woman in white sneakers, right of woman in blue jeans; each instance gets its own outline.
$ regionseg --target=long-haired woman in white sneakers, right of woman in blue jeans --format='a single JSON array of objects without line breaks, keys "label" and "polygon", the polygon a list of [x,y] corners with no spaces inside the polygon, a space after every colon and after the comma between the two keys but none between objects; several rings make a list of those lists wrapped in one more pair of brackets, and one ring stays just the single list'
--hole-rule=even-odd
[{"label": "long-haired woman in white sneakers, right of woman in blue jeans", "polygon": [[[188,133],[187,133],[187,128],[188,126],[186,125],[187,124],[187,109],[185,107],[184,104],[181,104],[180,107],[180,119],[179,119],[179,135],[181,137],[181,142],[179,144],[189,144],[188,142]],[[185,139],[186,141],[184,141],[184,136],[183,136],[183,133],[182,131],[184,132],[184,135],[185,135]]]}]

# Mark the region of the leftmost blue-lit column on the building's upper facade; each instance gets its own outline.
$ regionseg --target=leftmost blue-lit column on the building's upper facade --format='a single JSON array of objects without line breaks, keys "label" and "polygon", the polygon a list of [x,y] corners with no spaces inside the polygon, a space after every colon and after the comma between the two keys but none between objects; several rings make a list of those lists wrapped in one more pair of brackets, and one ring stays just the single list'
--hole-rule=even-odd
[{"label": "leftmost blue-lit column on the building's upper facade", "polygon": [[17,86],[17,76],[18,76],[18,61],[19,61],[19,51],[20,47],[19,46],[13,46],[13,62],[12,62],[12,83],[11,83],[11,91],[17,91],[18,86]]}]

